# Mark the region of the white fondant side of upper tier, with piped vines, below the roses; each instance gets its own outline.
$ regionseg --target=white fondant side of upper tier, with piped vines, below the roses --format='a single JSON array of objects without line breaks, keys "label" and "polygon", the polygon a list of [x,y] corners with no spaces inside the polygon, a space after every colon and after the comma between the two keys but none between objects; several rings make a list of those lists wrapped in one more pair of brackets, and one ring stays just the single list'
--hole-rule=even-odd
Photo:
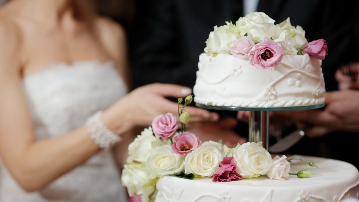
[{"label": "white fondant side of upper tier, with piped vines, below the roses", "polygon": [[324,103],[322,61],[284,55],[271,70],[257,69],[248,59],[202,53],[195,102],[214,106],[289,107]]}]

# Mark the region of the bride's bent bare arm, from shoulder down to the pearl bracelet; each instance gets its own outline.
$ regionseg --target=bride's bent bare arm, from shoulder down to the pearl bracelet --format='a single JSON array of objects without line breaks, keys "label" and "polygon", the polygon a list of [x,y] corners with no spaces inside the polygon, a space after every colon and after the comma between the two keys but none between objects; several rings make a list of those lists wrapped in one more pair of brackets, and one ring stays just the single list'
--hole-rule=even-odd
[{"label": "bride's bent bare arm, from shoulder down to the pearl bracelet", "polygon": [[[19,38],[11,29],[1,28],[0,24],[0,155],[19,185],[34,191],[82,164],[100,148],[85,127],[60,137],[35,141],[19,76]],[[1,36],[2,33],[6,33],[6,37]],[[125,123],[121,117],[125,116],[120,112],[116,115],[116,121],[109,123],[111,118],[107,118],[104,123],[121,135],[128,127],[121,126],[121,122]]]}]

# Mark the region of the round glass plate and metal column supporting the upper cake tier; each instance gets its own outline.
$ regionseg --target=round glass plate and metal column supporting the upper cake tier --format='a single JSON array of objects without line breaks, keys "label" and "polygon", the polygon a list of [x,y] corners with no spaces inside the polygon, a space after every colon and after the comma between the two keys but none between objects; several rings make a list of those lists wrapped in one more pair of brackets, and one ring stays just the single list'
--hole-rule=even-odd
[{"label": "round glass plate and metal column supporting the upper cake tier", "polygon": [[229,111],[250,111],[249,115],[249,136],[250,142],[263,142],[263,147],[269,150],[269,111],[293,111],[318,109],[324,104],[294,106],[294,107],[225,107],[212,106],[196,103],[197,107],[204,109],[229,110]]}]

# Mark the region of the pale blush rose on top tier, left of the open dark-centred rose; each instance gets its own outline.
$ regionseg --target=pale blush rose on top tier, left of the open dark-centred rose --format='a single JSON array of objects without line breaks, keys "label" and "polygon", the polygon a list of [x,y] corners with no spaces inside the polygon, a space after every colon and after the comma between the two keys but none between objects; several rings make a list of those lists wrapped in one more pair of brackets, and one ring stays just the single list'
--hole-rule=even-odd
[{"label": "pale blush rose on top tier, left of the open dark-centred rose", "polygon": [[230,54],[236,58],[249,58],[248,53],[254,46],[254,42],[250,36],[238,37],[236,41],[233,41],[230,48]]}]

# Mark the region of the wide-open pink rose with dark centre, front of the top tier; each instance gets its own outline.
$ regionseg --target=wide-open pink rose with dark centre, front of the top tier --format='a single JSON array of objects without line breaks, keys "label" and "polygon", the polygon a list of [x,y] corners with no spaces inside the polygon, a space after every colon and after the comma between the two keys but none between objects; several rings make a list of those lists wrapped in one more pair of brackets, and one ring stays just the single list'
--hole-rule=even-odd
[{"label": "wide-open pink rose with dark centre, front of the top tier", "polygon": [[250,64],[257,69],[271,70],[274,65],[278,65],[283,58],[283,47],[267,37],[260,43],[253,46],[249,52],[251,55]]}]

